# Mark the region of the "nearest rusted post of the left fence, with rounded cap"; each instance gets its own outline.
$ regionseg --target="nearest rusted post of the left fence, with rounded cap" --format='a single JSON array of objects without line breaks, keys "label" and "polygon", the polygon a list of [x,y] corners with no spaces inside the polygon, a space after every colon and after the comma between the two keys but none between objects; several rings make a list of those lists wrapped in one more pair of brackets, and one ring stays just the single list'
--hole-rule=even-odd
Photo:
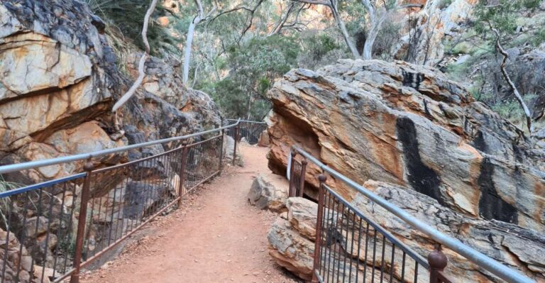
[{"label": "nearest rusted post of the left fence, with rounded cap", "polygon": [[83,242],[85,237],[85,223],[87,222],[87,203],[89,202],[91,176],[94,165],[91,160],[83,165],[87,172],[83,181],[82,201],[79,204],[79,216],[77,217],[76,248],[74,252],[74,272],[70,275],[70,283],[79,283],[79,272],[82,264]]}]

